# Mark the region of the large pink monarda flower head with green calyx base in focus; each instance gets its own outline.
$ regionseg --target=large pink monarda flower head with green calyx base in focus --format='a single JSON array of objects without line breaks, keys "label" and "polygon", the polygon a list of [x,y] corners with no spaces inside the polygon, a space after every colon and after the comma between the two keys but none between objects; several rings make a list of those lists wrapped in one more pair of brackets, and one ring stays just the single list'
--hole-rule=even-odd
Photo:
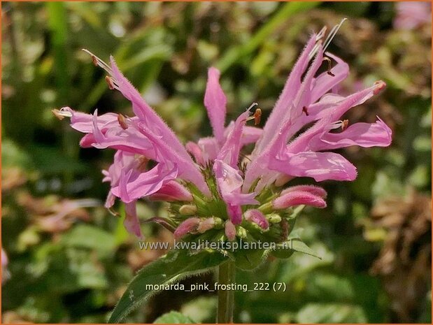
[{"label": "large pink monarda flower head with green calyx base in focus", "polygon": [[[103,171],[104,182],[111,185],[106,207],[116,199],[124,202],[125,227],[137,237],[142,234],[136,201],[148,198],[170,202],[171,217],[154,219],[176,239],[281,243],[288,239],[298,206],[326,207],[324,189],[286,186],[291,180],[355,180],[355,166],[333,150],[391,143],[391,130],[379,117],[373,124],[349,125],[343,120],[350,108],[378,94],[385,82],[346,97],[332,92],[349,68],[325,52],[322,36],[311,36],[262,129],[257,127],[261,110],[255,103],[226,124],[220,72],[209,68],[204,106],[213,136],[184,146],[122,75],[113,57],[108,65],[91,53],[93,62],[108,73],[108,87],[132,103],[134,116],[98,115],[97,110],[90,115],[69,107],[55,110],[55,115],[71,117],[71,127],[85,133],[82,147],[115,150],[113,165]],[[322,64],[327,71],[318,73]],[[255,126],[247,125],[253,120]],[[253,151],[241,154],[249,144],[255,144]]]}]

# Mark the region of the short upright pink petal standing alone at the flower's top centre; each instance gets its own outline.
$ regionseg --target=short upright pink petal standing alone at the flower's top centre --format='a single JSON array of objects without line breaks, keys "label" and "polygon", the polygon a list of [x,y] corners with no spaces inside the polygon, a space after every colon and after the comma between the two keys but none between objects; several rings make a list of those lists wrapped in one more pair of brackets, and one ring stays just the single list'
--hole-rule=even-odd
[{"label": "short upright pink petal standing alone at the flower's top centre", "polygon": [[219,143],[224,141],[224,122],[227,99],[220,86],[220,71],[217,68],[209,68],[208,82],[204,94],[204,106],[208,110],[213,134]]}]

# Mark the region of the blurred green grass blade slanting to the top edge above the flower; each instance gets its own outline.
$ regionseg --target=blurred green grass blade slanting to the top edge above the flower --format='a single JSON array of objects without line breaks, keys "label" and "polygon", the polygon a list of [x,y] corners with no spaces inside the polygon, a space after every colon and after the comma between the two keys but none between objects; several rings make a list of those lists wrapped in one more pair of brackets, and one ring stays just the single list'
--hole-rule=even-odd
[{"label": "blurred green grass blade slanting to the top edge above the flower", "polygon": [[283,24],[292,15],[301,13],[306,10],[318,6],[320,2],[289,2],[285,3],[277,13],[272,17],[269,22],[257,31],[255,36],[250,38],[247,43],[231,48],[227,51],[226,55],[220,59],[216,66],[220,69],[221,73],[227,70],[232,64],[237,62],[241,57],[250,54],[259,47],[264,40],[266,40],[281,24]]}]

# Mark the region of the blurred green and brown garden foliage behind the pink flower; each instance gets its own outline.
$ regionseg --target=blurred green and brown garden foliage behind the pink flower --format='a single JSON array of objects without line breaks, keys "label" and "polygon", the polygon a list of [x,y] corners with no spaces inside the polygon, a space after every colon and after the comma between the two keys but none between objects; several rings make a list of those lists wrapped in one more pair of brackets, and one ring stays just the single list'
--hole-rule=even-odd
[{"label": "blurred green and brown garden foliage behind the pink flower", "polygon": [[[101,59],[125,75],[182,140],[211,134],[206,69],[218,66],[228,119],[257,101],[269,115],[312,31],[343,17],[329,51],[350,65],[350,94],[385,80],[347,114],[381,117],[388,148],[348,147],[355,182],[324,182],[328,208],[304,210],[297,229],[322,259],[295,253],[238,283],[285,282],[288,291],[236,292],[235,322],[431,322],[430,3],[8,3],[2,2],[2,322],[106,322],[134,272],[164,254],[139,250],[103,206],[111,150],[80,149],[80,134],[52,115],[71,106],[132,114],[111,92]],[[121,210],[121,207],[117,207]],[[120,211],[121,212],[121,211]],[[164,206],[142,201],[142,219]],[[157,225],[150,241],[171,240]],[[186,283],[213,282],[213,275]],[[165,291],[127,322],[178,310],[214,322],[214,294]]]}]

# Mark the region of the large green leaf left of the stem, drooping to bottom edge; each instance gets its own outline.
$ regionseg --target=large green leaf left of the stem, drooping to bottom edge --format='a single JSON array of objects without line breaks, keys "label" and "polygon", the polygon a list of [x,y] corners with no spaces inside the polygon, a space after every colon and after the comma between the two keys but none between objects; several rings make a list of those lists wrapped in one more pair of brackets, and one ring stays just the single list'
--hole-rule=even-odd
[{"label": "large green leaf left of the stem, drooping to bottom edge", "polygon": [[171,284],[187,275],[206,272],[226,259],[228,257],[218,252],[202,251],[192,255],[187,250],[171,250],[164,257],[139,270],[139,273],[129,283],[118,305],[115,306],[108,322],[122,321],[129,312],[132,312],[155,292],[152,288],[155,288],[156,285]]}]

